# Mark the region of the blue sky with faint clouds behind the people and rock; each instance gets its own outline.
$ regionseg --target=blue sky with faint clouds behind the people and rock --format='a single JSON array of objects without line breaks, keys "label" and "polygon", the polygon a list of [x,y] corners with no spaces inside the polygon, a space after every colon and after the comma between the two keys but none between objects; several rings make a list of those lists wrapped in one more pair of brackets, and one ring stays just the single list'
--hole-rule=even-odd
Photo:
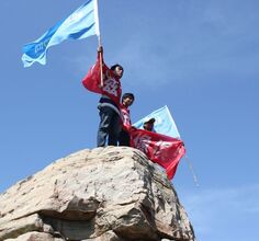
[{"label": "blue sky with faint clouds behind the people and rock", "polygon": [[[1,0],[0,192],[95,147],[99,96],[81,85],[97,37],[49,49],[24,69],[23,44],[83,0]],[[168,105],[187,161],[173,184],[199,241],[258,241],[259,1],[100,0],[104,60],[124,66],[132,120]]]}]

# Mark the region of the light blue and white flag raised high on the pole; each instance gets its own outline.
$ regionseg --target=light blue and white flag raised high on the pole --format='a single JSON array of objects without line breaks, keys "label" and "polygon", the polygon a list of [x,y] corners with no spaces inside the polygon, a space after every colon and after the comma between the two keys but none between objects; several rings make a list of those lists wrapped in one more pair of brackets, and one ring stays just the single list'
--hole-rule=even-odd
[{"label": "light blue and white flag raised high on the pole", "polygon": [[97,0],[88,0],[67,19],[49,28],[42,37],[24,45],[23,65],[30,67],[35,61],[45,65],[46,53],[50,46],[58,45],[66,39],[82,39],[92,35],[100,36]]}]

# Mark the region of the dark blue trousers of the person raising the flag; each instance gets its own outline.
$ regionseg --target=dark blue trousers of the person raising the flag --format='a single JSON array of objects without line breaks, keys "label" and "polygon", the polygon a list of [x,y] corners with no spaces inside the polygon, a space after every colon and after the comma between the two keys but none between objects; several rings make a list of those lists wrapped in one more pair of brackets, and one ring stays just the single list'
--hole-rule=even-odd
[{"label": "dark blue trousers of the person raising the flag", "polygon": [[98,129],[98,147],[117,146],[121,123],[119,114],[109,106],[100,106],[100,125]]}]

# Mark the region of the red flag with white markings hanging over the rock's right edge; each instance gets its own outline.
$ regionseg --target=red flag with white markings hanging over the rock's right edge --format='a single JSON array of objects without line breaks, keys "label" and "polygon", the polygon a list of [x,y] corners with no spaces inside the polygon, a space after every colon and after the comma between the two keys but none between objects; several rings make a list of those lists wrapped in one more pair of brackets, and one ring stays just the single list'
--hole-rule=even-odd
[{"label": "red flag with white markings hanging over the rock's right edge", "polygon": [[166,169],[169,180],[173,177],[185,148],[180,139],[143,130],[131,130],[131,146],[142,150],[153,162]]}]

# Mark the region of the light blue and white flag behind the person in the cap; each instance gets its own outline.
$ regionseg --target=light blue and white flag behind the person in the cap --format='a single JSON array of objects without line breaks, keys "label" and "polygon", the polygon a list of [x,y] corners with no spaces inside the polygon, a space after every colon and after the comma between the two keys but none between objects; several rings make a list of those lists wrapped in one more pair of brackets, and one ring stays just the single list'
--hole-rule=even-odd
[{"label": "light blue and white flag behind the person in the cap", "polygon": [[135,126],[136,128],[143,129],[143,124],[150,118],[156,119],[156,122],[154,123],[154,130],[156,133],[180,139],[180,134],[177,129],[177,125],[176,125],[167,105],[150,113],[146,117],[136,122],[133,126]]}]

